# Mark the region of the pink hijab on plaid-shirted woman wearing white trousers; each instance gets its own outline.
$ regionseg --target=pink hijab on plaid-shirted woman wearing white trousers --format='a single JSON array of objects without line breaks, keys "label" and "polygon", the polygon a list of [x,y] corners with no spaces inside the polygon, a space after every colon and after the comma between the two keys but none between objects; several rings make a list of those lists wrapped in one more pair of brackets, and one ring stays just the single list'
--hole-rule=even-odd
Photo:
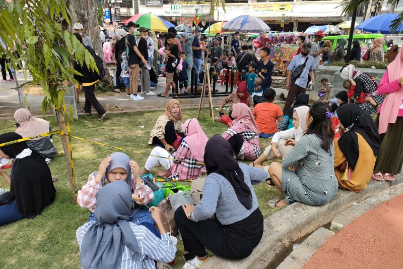
[{"label": "pink hijab on plaid-shirted woman wearing white trousers", "polygon": [[197,162],[204,163],[205,148],[209,138],[203,132],[203,129],[201,129],[197,119],[186,120],[182,128],[186,136],[184,140],[189,146],[193,157]]}]

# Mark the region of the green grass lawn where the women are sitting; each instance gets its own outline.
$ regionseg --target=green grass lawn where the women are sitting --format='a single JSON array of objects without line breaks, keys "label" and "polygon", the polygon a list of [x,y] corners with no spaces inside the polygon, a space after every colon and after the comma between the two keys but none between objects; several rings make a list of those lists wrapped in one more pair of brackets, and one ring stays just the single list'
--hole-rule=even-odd
[{"label": "green grass lawn where the women are sitting", "polygon": [[[80,116],[79,120],[72,122],[72,134],[105,144],[139,150],[149,153],[153,148],[148,145],[150,130],[154,126],[161,111],[119,113],[105,122],[97,121],[97,115]],[[197,110],[183,110],[184,119],[194,118]],[[208,137],[222,134],[226,126],[222,123],[213,123],[206,110],[205,118],[200,125]],[[58,129],[53,117],[47,118],[53,129]],[[13,120],[0,120],[1,132],[15,131]],[[139,128],[144,126],[144,128]],[[260,139],[263,150],[270,140]],[[73,203],[70,192],[70,183],[65,164],[65,157],[59,136],[53,136],[53,144],[57,148],[57,155],[49,164],[53,177],[58,181],[54,183],[57,190],[54,203],[43,210],[35,219],[24,219],[16,223],[0,227],[0,260],[2,268],[78,268],[79,247],[76,241],[76,230],[88,221],[89,210]],[[73,140],[73,159],[77,188],[81,189],[88,180],[88,175],[98,170],[103,158],[115,152],[113,148],[89,144]],[[147,154],[127,153],[143,167]],[[35,173],[35,171],[32,171]],[[0,187],[7,186],[3,178]],[[281,197],[274,186],[266,183],[254,187],[263,217],[276,210],[269,208],[267,201],[274,197]],[[183,245],[178,242],[176,253],[176,266],[183,265]]]}]

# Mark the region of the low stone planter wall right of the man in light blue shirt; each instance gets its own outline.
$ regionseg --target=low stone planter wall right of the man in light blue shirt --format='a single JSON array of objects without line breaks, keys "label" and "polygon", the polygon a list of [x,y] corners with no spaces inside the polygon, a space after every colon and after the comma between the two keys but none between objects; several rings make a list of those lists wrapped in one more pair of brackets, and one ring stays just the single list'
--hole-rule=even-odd
[{"label": "low stone planter wall right of the man in light blue shirt", "polygon": [[[309,98],[312,100],[316,100],[318,96],[318,91],[321,88],[320,80],[322,78],[327,78],[329,83],[333,85],[333,90],[330,92],[330,98],[334,98],[334,95],[338,92],[345,90],[343,88],[344,79],[340,76],[341,66],[319,66],[315,70],[315,83],[312,90],[309,91]],[[384,69],[372,69],[372,68],[357,68],[361,72],[368,73],[372,77],[376,78],[378,83],[380,83],[383,74],[385,73]],[[307,92],[308,93],[308,92]]]}]

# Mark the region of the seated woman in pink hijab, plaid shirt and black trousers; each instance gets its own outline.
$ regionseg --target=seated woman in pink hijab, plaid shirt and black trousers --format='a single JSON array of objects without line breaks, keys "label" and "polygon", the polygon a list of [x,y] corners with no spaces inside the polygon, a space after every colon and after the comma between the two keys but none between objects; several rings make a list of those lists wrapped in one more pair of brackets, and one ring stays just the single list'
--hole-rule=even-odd
[{"label": "seated woman in pink hijab, plaid shirt and black trousers", "polygon": [[244,103],[232,105],[232,125],[224,132],[234,152],[234,158],[255,160],[260,155],[259,128],[249,107]]}]

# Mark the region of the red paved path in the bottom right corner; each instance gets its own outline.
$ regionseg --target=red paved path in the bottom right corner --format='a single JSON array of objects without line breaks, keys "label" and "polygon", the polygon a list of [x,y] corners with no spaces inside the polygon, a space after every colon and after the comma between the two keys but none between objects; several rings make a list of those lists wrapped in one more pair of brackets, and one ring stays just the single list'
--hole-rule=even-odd
[{"label": "red paved path in the bottom right corner", "polygon": [[403,268],[403,194],[332,236],[303,268]]}]

